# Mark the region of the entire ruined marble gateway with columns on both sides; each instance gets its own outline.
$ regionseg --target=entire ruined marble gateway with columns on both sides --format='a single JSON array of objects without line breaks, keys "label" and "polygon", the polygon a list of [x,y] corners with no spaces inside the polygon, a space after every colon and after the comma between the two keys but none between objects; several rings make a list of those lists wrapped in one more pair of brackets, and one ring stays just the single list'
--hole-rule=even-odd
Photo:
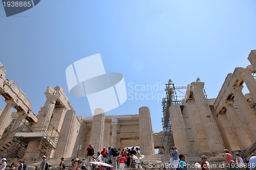
[{"label": "entire ruined marble gateway with columns on both sides", "polygon": [[[256,70],[255,50],[248,60],[251,65],[237,67],[227,75],[216,99],[206,99],[204,83],[196,81],[187,86],[181,105],[169,107],[179,153],[218,153],[228,149],[248,155],[256,149],[256,81],[252,76]],[[62,88],[56,86],[47,88],[46,102],[36,115],[25,93],[5,77],[6,69],[0,63],[0,94],[6,99],[6,107],[0,108],[2,157],[28,161],[42,155],[56,159],[82,157],[88,143],[93,143],[95,151],[139,146],[141,153],[150,157],[155,155],[154,149],[164,145],[163,132],[152,131],[147,107],[138,108],[138,114],[115,116],[105,116],[104,108],[99,108],[95,116],[81,117]],[[250,93],[242,93],[243,85]]]}]

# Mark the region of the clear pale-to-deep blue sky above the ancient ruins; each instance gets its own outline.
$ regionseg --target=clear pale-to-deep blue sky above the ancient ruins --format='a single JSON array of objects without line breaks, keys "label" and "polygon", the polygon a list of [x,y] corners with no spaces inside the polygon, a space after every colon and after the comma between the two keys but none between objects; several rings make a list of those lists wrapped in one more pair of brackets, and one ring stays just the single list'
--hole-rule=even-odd
[{"label": "clear pale-to-deep blue sky above the ancient ruins", "polygon": [[[0,61],[6,78],[25,92],[35,114],[44,106],[47,86],[58,85],[78,115],[90,116],[87,98],[69,94],[65,70],[97,53],[106,72],[124,76],[133,96],[162,95],[160,86],[168,79],[181,86],[200,77],[208,98],[216,98],[227,74],[250,64],[247,57],[256,45],[255,8],[255,1],[235,0],[45,0],[6,17],[1,4]],[[131,90],[135,85],[158,89]],[[161,100],[127,98],[106,114],[138,114],[147,106],[153,130],[162,130]]]}]

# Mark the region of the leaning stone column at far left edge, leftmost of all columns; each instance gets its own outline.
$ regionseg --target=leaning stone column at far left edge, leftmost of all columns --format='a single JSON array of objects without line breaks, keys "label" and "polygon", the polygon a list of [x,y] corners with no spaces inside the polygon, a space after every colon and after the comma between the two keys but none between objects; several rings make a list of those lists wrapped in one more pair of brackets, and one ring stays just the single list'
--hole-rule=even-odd
[{"label": "leaning stone column at far left edge, leftmost of all columns", "polygon": [[0,116],[0,138],[3,135],[5,128],[8,126],[6,124],[8,122],[7,119],[10,118],[12,111],[16,105],[13,99],[7,99],[5,100],[5,102],[7,103],[7,105]]}]

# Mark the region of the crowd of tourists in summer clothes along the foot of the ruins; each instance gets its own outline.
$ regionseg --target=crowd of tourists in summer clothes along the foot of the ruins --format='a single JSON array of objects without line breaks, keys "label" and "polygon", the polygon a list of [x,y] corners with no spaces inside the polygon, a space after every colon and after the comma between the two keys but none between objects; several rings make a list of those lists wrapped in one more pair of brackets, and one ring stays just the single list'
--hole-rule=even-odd
[{"label": "crowd of tourists in summer clothes along the foot of the ruins", "polygon": [[[229,153],[227,149],[223,151],[225,155],[225,167],[227,170],[245,170],[246,168],[250,168],[250,170],[256,170],[256,155],[251,154],[249,157],[249,162],[244,163],[240,154],[237,152],[234,154],[236,157],[236,163],[233,160],[232,155]],[[95,155],[95,157],[94,157]],[[105,169],[116,169],[119,164],[119,169],[123,170],[124,168],[141,168],[140,166],[140,158],[141,154],[139,148],[132,147],[131,149],[120,149],[116,150],[115,148],[103,148],[101,152],[97,152],[94,154],[94,149],[92,143],[89,143],[87,148],[86,158],[79,160],[78,158],[72,159],[72,167],[69,170],[79,170],[79,169],[88,169],[88,170],[105,170]],[[59,163],[58,170],[63,170],[66,168],[65,166],[65,158],[60,158],[61,162]],[[207,156],[203,155],[201,157],[201,166],[202,170],[210,170],[209,162],[207,161]],[[170,167],[173,170],[187,170],[186,157],[184,154],[179,154],[176,147],[172,147],[172,152],[170,152]],[[110,168],[108,165],[112,165],[113,168]],[[3,158],[2,163],[0,165],[0,170],[5,170],[7,166],[7,159]],[[42,161],[39,166],[39,170],[48,170],[46,168],[48,166],[46,161],[46,156],[42,156]],[[27,170],[27,165],[24,161],[18,160],[18,166],[15,166],[13,162],[10,165],[11,170]]]}]

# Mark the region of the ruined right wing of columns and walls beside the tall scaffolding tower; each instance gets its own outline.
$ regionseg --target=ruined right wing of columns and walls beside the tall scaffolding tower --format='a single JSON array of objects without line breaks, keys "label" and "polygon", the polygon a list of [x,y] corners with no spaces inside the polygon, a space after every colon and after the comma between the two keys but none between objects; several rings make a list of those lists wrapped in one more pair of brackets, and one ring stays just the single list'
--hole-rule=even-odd
[{"label": "ruined right wing of columns and walls beside the tall scaffolding tower", "polygon": [[[174,131],[176,138],[179,138],[179,133],[187,137],[183,138],[189,142],[183,153],[185,150],[188,153],[220,152],[223,149],[245,151],[256,142],[256,81],[252,77],[256,69],[255,54],[253,50],[248,57],[252,65],[237,67],[227,75],[216,99],[205,99],[204,83],[198,79],[187,87],[186,98],[182,102],[185,106],[183,113],[178,115],[170,109],[171,120],[174,121],[172,116],[175,115],[184,123],[185,128]],[[244,85],[249,94],[242,93]],[[172,126],[177,129],[180,125],[172,122]]]}]

